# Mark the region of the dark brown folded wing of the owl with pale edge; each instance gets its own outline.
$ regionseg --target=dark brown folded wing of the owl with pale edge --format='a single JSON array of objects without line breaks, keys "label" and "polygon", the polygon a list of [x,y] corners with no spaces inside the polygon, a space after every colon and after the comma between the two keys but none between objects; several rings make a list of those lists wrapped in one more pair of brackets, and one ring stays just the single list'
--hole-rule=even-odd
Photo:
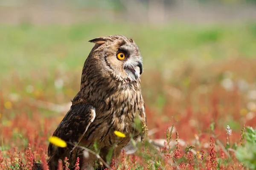
[{"label": "dark brown folded wing of the owl with pale edge", "polygon": [[[78,144],[90,124],[94,121],[95,116],[95,108],[92,105],[86,103],[74,104],[71,106],[52,136],[57,136],[66,142]],[[74,146],[71,144],[67,144],[67,147],[65,148],[55,147],[50,143],[48,147],[48,156],[54,156],[56,158],[67,156],[69,158],[69,154],[73,147]]]}]

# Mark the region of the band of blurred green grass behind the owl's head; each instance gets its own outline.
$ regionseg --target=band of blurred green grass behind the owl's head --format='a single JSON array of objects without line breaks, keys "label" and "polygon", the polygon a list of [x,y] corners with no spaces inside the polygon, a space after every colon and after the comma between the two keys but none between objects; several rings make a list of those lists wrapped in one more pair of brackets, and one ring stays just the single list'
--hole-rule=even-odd
[{"label": "band of blurred green grass behind the owl's head", "polygon": [[127,23],[84,23],[72,26],[0,25],[0,79],[17,71],[55,70],[64,66],[81,71],[95,37],[123,34],[134,38],[145,69],[177,68],[184,60],[204,64],[233,57],[255,57],[256,25],[141,26]]}]

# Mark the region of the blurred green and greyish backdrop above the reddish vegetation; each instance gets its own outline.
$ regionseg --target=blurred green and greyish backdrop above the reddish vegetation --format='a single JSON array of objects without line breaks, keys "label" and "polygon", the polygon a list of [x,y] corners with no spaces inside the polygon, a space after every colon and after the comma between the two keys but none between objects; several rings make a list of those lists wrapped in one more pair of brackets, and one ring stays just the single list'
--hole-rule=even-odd
[{"label": "blurred green and greyish backdrop above the reddish vegetation", "polygon": [[205,64],[255,57],[255,0],[1,0],[0,79],[63,66],[81,71],[88,40],[123,34],[140,47],[145,71],[184,60]]}]

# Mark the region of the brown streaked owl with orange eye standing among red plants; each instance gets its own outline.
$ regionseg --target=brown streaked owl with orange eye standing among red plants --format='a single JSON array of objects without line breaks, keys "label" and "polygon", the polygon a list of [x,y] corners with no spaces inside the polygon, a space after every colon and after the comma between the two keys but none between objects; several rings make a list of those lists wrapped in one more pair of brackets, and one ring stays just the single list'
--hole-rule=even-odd
[{"label": "brown streaked owl with orange eye standing among red plants", "polygon": [[[145,125],[145,105],[141,94],[140,74],[142,57],[135,42],[122,35],[99,37],[89,42],[95,45],[84,62],[81,88],[72,101],[70,111],[58,125],[53,136],[94,150],[106,160],[113,149],[112,159],[119,156],[123,147],[143,133],[134,127],[136,117]],[[125,134],[119,138],[114,131]],[[69,159],[74,165],[80,159],[81,169],[93,170],[96,156],[68,144],[55,147],[49,144],[48,165],[57,169],[58,159]],[[96,167],[97,168],[97,167]]]}]

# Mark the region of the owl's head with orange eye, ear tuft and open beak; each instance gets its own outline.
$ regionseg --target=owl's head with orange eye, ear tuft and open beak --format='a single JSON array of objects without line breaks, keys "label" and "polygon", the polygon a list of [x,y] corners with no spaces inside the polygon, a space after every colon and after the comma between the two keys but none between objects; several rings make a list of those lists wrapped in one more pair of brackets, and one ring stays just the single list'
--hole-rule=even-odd
[{"label": "owl's head with orange eye, ear tuft and open beak", "polygon": [[95,43],[87,58],[91,62],[94,61],[95,71],[102,76],[111,75],[118,80],[140,79],[140,74],[143,72],[142,57],[132,39],[113,35],[95,38],[89,42]]}]

